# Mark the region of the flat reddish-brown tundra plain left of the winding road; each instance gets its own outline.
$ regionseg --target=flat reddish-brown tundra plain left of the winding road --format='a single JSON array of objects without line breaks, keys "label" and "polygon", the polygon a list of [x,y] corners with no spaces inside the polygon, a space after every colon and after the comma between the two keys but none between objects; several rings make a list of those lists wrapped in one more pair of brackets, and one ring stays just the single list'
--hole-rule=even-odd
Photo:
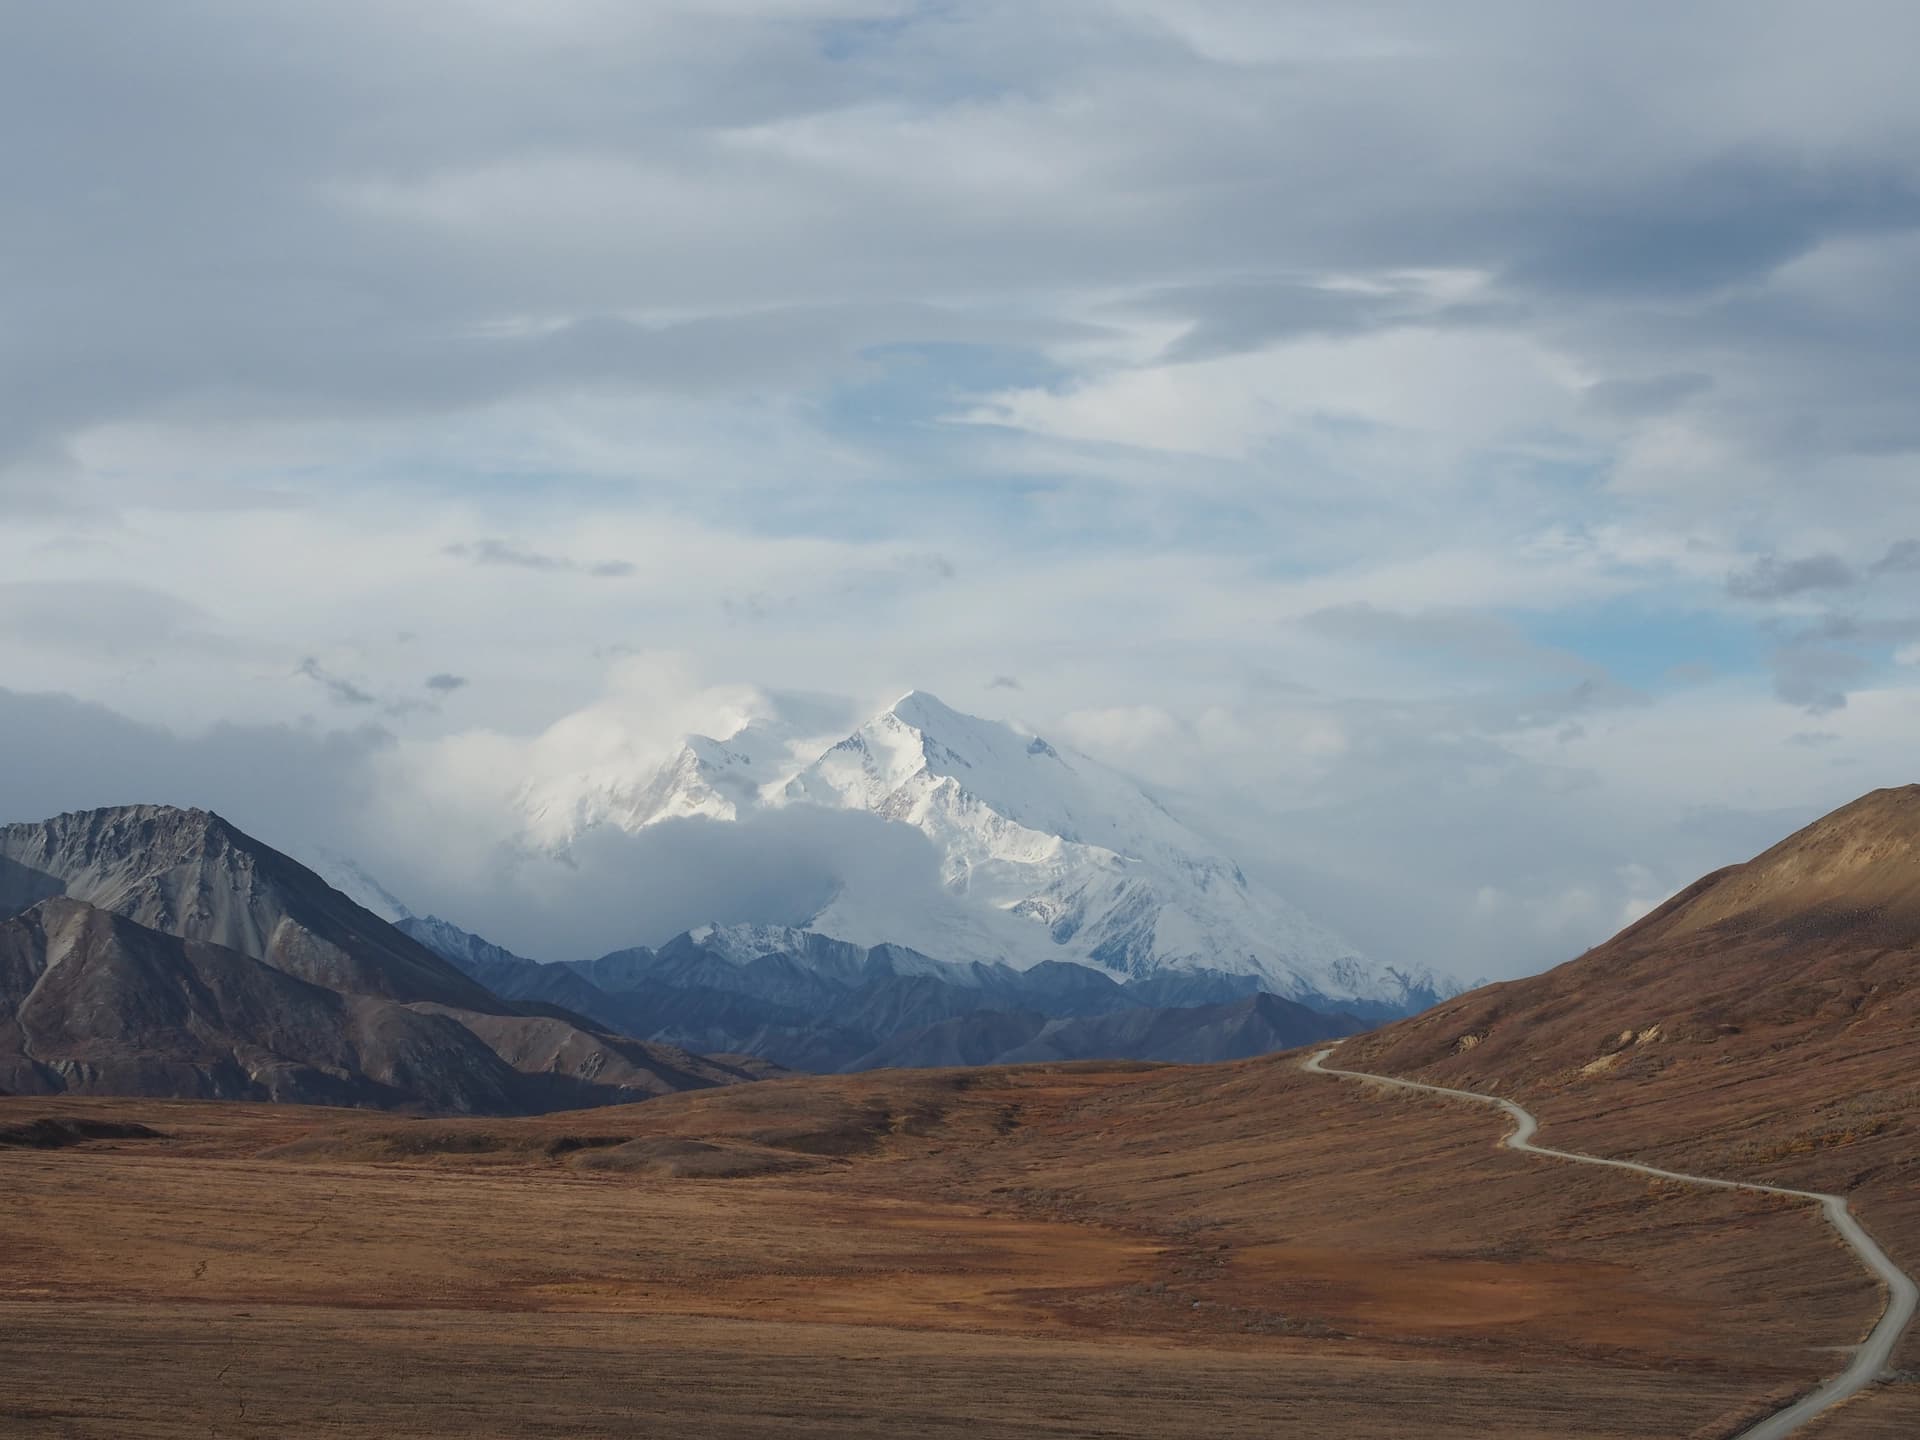
[{"label": "flat reddish-brown tundra plain left of the winding road", "polygon": [[[532,1119],[0,1098],[23,1139],[156,1131],[0,1148],[0,1428],[1703,1438],[1878,1313],[1811,1208],[1298,1064]],[[1811,1434],[1910,1434],[1916,1398]]]}]

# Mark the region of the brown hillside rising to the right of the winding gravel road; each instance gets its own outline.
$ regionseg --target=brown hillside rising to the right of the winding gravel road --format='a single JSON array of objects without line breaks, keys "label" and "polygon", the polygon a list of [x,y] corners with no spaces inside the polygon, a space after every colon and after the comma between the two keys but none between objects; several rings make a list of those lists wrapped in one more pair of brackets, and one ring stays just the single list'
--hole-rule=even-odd
[{"label": "brown hillside rising to the right of the winding gravel road", "polygon": [[1348,1041],[1336,1064],[1519,1100],[1546,1144],[1845,1192],[1914,1271],[1920,785],[1695,881],[1557,970]]}]

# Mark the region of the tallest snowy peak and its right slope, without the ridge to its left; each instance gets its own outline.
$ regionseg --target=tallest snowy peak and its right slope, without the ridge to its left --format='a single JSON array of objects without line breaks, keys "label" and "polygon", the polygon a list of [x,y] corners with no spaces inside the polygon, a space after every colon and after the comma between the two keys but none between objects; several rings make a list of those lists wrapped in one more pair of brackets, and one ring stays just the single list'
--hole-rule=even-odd
[{"label": "tallest snowy peak and its right slope, without the ridge to its left", "polygon": [[[1294,996],[1425,998],[1371,966],[1173,818],[1127,776],[996,720],[908,691],[801,770],[785,803],[868,810],[920,829],[952,914],[843,891],[812,925],[943,958],[1073,960],[1144,977],[1252,973]],[[1444,981],[1440,981],[1444,987]]]}]

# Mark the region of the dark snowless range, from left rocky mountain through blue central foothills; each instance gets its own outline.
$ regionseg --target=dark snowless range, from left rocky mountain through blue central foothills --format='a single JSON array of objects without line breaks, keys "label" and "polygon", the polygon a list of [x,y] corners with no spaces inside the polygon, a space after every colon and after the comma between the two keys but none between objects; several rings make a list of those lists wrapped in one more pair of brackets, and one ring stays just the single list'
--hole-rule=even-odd
[{"label": "dark snowless range, from left rocky mountain through blue central foothills", "polygon": [[1250,975],[1121,983],[804,929],[538,964],[330,870],[397,924],[205,810],[0,828],[0,1091],[522,1114],[783,1068],[1225,1060],[1359,1027]]}]

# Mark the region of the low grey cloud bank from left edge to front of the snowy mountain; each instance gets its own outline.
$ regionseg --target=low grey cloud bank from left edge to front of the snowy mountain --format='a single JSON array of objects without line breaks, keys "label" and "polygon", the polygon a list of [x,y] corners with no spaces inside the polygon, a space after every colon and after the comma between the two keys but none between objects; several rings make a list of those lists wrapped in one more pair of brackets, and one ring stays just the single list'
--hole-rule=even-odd
[{"label": "low grey cloud bank from left edge to front of the snowy mountain", "polygon": [[104,707],[0,689],[0,747],[35,756],[0,776],[0,824],[106,804],[213,808],[296,858],[349,854],[411,908],[540,958],[659,943],[714,918],[797,924],[851,881],[900,904],[939,900],[927,839],[868,814],[795,808],[749,824],[601,829],[563,858],[518,849],[503,839],[497,799],[472,808],[420,770],[396,770],[394,739],[372,728],[180,737]]}]

